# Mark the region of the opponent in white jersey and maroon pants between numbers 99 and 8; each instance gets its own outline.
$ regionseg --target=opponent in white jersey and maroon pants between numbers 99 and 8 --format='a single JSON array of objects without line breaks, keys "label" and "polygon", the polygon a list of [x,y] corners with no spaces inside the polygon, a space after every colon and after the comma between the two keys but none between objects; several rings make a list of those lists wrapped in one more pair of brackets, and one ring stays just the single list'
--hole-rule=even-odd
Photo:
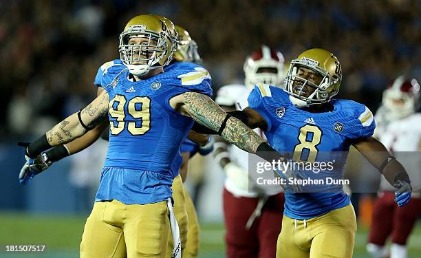
[{"label": "opponent in white jersey and maroon pants between numbers 99 and 8", "polygon": [[[261,45],[244,63],[246,85],[221,87],[216,103],[226,111],[248,107],[247,97],[255,85],[281,85],[285,71],[283,62],[280,52]],[[263,136],[261,129],[255,131]],[[226,172],[223,199],[227,257],[275,257],[277,237],[281,232],[279,218],[283,215],[283,193],[265,194],[264,189],[255,186],[249,178],[248,153],[227,145],[220,138],[215,143],[215,160]]]}]

